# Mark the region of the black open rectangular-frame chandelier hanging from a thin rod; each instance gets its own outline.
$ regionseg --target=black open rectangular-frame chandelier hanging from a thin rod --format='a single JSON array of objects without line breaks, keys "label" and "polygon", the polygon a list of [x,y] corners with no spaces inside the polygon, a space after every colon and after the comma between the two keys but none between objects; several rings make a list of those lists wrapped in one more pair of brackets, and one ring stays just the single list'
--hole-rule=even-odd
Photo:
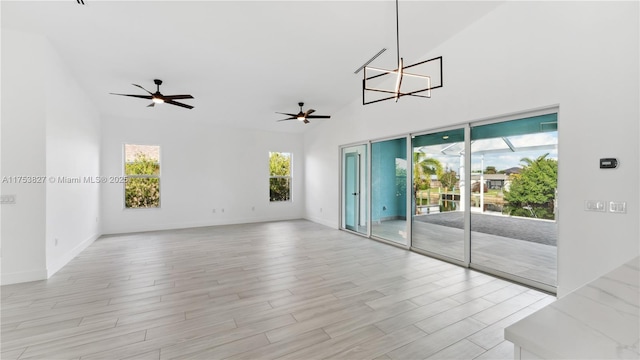
[{"label": "black open rectangular-frame chandelier hanging from a thin rod", "polygon": [[[371,66],[366,66],[372,60],[366,63],[364,66],[363,79],[362,79],[362,105],[368,105],[377,103],[380,101],[395,99],[397,102],[403,96],[416,96],[422,98],[430,98],[431,90],[442,87],[442,56],[435,57],[433,59],[421,61],[413,65],[404,66],[404,60],[400,57],[400,25],[398,16],[398,0],[396,0],[396,51],[397,51],[397,64],[398,67],[394,70],[381,69]],[[375,56],[377,57],[377,56]],[[374,59],[375,59],[374,57]],[[419,70],[421,67],[431,69],[435,72],[434,75],[439,76],[438,84],[433,85],[432,77],[434,75],[421,75],[416,72],[406,71],[409,68]],[[435,70],[433,69],[435,67]],[[375,75],[367,76],[367,71],[376,73]],[[357,72],[357,71],[356,71]],[[393,89],[378,88],[371,85],[372,82],[383,81],[386,77],[395,76],[395,85]],[[409,90],[403,90],[403,81],[405,83],[405,89],[409,87]],[[407,81],[411,84],[407,86]],[[367,100],[367,94],[371,93],[383,93],[391,94],[390,96],[378,97],[373,100]]]}]

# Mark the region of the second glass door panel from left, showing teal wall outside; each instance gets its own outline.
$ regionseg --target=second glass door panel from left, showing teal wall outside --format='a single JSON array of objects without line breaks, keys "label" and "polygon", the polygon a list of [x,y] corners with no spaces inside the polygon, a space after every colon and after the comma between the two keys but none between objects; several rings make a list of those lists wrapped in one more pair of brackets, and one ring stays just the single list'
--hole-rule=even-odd
[{"label": "second glass door panel from left, showing teal wall outside", "polygon": [[407,244],[407,139],[371,144],[371,235]]}]

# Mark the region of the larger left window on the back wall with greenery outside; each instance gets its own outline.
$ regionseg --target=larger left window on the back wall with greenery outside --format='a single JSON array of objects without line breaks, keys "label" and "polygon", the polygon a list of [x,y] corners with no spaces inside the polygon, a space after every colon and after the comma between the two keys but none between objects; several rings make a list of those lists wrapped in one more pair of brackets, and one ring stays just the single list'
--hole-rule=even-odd
[{"label": "larger left window on the back wall with greenery outside", "polygon": [[125,208],[160,207],[160,146],[125,145],[124,174]]}]

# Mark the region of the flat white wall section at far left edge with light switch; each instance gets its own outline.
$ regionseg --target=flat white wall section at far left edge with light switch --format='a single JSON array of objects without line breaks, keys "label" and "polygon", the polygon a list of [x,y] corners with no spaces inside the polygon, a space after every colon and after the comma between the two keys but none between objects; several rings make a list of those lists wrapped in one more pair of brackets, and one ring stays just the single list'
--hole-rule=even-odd
[{"label": "flat white wall section at far left edge with light switch", "polygon": [[[2,30],[2,178],[44,176],[44,39]],[[43,279],[45,184],[2,184],[2,284]]]}]

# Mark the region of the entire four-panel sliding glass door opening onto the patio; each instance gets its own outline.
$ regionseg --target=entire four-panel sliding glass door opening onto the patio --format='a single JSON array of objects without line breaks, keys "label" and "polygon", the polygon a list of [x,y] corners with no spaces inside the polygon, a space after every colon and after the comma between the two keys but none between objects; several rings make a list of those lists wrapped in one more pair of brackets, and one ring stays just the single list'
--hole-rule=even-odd
[{"label": "entire four-panel sliding glass door opening onto the patio", "polygon": [[549,108],[344,147],[341,227],[554,292],[557,121]]}]

